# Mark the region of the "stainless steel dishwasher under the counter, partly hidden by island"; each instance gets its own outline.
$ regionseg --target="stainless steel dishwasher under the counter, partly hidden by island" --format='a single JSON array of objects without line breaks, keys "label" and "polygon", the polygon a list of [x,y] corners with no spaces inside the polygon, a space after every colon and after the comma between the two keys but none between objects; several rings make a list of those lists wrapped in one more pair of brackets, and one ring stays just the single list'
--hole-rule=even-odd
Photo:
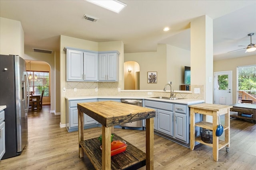
[{"label": "stainless steel dishwasher under the counter, partly hidden by island", "polygon": [[[132,104],[132,105],[136,105],[136,106],[141,106],[142,107],[142,99],[121,99],[121,103],[126,103],[126,104]],[[142,120],[139,121],[134,121],[134,122],[130,122],[130,123],[124,123],[121,125],[123,129],[125,129],[125,127],[130,127],[128,129],[138,129],[138,128],[142,128]]]}]

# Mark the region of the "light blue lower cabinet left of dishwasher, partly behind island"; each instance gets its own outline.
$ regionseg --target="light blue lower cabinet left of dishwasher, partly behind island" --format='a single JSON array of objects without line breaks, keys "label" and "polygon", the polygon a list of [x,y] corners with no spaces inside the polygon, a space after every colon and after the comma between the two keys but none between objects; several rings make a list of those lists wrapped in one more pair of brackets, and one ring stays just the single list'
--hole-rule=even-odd
[{"label": "light blue lower cabinet left of dishwasher, partly behind island", "polygon": [[[97,102],[97,99],[88,100],[66,100],[66,129],[68,132],[78,130],[78,103]],[[98,122],[92,117],[84,114],[84,129],[97,127]]]}]

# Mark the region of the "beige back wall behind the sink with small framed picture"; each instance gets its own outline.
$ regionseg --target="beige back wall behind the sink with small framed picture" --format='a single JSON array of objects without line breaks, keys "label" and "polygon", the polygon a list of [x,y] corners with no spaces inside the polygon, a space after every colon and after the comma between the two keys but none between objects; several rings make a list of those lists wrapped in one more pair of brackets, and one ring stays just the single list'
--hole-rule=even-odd
[{"label": "beige back wall behind the sink with small framed picture", "polygon": [[[163,90],[168,81],[173,90],[180,90],[184,83],[184,66],[190,66],[190,51],[160,44],[157,52],[125,53],[124,61],[136,61],[140,65],[140,90]],[[157,72],[157,83],[148,84],[148,71]]]}]

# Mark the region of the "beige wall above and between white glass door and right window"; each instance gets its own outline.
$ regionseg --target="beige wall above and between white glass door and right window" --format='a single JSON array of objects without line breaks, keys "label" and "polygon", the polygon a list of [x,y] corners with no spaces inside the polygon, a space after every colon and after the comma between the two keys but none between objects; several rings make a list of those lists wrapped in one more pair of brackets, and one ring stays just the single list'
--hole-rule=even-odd
[{"label": "beige wall above and between white glass door and right window", "polygon": [[219,60],[213,62],[213,71],[232,71],[232,101],[233,104],[236,103],[237,98],[237,85],[236,85],[236,68],[237,66],[248,66],[256,64],[256,55],[249,57],[240,57],[234,59]]}]

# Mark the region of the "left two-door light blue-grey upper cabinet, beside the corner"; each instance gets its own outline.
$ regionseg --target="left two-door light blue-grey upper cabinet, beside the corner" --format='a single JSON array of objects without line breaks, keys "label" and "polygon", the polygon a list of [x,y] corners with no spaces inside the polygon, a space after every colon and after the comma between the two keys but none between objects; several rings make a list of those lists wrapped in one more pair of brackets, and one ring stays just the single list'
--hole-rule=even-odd
[{"label": "left two-door light blue-grey upper cabinet, beside the corner", "polygon": [[66,47],[66,80],[98,81],[98,52]]}]

